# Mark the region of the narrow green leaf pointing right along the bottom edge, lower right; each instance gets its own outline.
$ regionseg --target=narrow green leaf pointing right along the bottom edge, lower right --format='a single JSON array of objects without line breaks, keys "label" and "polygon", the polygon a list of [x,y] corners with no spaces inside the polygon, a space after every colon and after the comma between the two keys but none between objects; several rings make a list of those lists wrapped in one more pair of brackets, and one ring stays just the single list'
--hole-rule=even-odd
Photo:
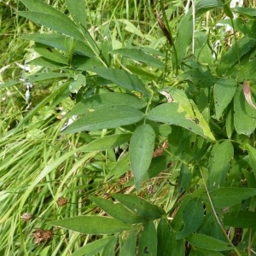
[{"label": "narrow green leaf pointing right along the bottom edge, lower right", "polygon": [[233,247],[230,247],[230,245],[224,241],[201,234],[193,234],[189,236],[187,240],[195,247],[210,251],[229,251],[233,249]]}]

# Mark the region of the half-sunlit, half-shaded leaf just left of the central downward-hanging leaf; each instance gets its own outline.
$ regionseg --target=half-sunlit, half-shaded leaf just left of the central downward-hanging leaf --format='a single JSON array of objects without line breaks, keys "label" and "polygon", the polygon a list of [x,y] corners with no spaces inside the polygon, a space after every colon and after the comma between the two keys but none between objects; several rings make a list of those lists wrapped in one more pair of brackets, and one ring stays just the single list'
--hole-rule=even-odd
[{"label": "half-sunlit, half-shaded leaf just left of the central downward-hanging leaf", "polygon": [[91,143],[80,148],[81,152],[102,151],[116,148],[124,143],[128,143],[131,138],[130,133],[114,134],[93,140]]}]

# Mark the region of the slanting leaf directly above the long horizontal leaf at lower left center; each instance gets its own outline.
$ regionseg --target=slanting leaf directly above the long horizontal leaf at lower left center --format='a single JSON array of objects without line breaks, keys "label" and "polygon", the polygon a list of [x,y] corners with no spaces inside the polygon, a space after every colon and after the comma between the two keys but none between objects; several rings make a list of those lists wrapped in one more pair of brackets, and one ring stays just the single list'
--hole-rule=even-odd
[{"label": "slanting leaf directly above the long horizontal leaf at lower left center", "polygon": [[127,224],[137,224],[145,221],[145,218],[137,216],[120,203],[113,203],[111,200],[101,198],[99,196],[89,196],[90,201],[93,201],[98,207],[102,208],[113,218],[116,218]]}]

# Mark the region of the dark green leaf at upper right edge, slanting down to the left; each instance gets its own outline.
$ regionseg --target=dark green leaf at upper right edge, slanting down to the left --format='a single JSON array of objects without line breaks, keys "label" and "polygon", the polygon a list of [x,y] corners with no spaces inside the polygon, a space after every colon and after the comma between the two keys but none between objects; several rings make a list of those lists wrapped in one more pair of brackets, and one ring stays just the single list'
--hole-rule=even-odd
[{"label": "dark green leaf at upper right edge, slanting down to the left", "polygon": [[217,69],[218,75],[224,76],[224,74],[234,67],[236,62],[253,49],[255,45],[256,40],[247,37],[241,38],[236,44],[232,45],[221,57]]}]

